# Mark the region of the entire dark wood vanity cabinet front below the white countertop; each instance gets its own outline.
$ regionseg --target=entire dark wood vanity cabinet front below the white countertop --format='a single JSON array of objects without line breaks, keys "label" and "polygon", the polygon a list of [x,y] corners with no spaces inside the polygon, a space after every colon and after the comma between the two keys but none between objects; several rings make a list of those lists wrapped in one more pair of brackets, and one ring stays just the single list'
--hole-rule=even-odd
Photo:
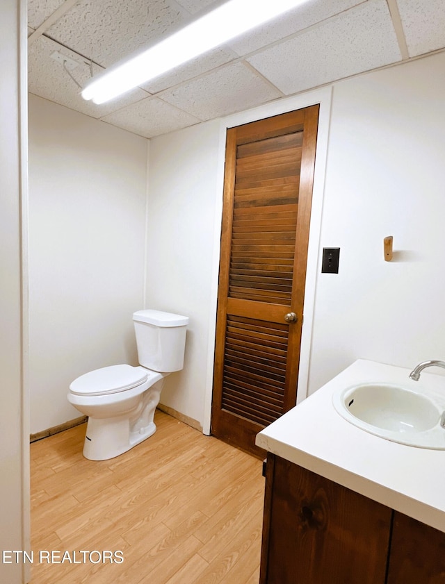
[{"label": "entire dark wood vanity cabinet front below the white countertop", "polygon": [[445,533],[268,454],[260,584],[445,584]]}]

